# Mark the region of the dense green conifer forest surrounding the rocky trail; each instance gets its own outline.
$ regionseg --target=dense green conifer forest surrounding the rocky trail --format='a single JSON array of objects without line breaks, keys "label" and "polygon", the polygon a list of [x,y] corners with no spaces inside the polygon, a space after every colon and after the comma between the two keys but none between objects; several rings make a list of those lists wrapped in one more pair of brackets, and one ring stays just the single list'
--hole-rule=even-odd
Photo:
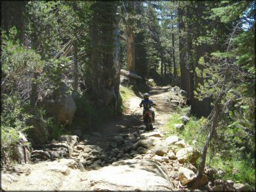
[{"label": "dense green conifer forest surrounding the rocky trail", "polygon": [[118,117],[120,69],[185,90],[210,160],[253,177],[255,1],[1,1],[1,157]]}]

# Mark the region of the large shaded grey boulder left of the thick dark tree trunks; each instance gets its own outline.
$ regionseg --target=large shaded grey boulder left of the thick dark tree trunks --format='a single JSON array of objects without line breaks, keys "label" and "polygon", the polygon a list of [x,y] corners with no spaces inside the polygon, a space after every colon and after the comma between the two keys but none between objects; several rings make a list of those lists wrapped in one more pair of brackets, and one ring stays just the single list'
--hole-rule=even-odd
[{"label": "large shaded grey boulder left of the thick dark tree trunks", "polygon": [[77,106],[72,95],[68,94],[67,86],[63,85],[51,97],[53,99],[46,99],[43,102],[46,110],[60,122],[71,124]]}]

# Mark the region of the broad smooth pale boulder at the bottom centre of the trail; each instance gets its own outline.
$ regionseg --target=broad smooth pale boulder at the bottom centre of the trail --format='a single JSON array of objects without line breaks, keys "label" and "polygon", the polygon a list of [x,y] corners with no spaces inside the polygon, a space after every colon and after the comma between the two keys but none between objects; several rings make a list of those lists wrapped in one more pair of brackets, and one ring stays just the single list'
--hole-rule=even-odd
[{"label": "broad smooth pale boulder at the bottom centre of the trail", "polygon": [[152,160],[124,160],[90,171],[93,191],[173,191],[164,167]]}]

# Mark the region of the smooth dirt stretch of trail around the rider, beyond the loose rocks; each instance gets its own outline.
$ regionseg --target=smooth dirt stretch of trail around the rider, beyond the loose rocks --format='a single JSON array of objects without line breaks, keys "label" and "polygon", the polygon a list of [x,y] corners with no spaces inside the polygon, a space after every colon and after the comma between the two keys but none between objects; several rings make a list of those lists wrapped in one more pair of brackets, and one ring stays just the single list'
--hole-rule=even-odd
[{"label": "smooth dirt stretch of trail around the rider, beyond the loose rocks", "polygon": [[[153,102],[157,104],[157,106],[153,107],[156,113],[154,128],[159,128],[161,131],[164,131],[164,126],[170,117],[170,113],[174,111],[170,103],[170,92],[168,91],[170,88],[172,88],[172,86],[154,86],[149,91],[149,99],[152,99]],[[143,95],[143,93],[141,93],[141,95]],[[143,128],[143,108],[139,107],[141,100],[142,98],[136,95],[129,98],[125,102],[127,108],[121,119],[102,124],[93,131],[110,136],[121,132],[131,132],[131,129],[139,130]]]}]

